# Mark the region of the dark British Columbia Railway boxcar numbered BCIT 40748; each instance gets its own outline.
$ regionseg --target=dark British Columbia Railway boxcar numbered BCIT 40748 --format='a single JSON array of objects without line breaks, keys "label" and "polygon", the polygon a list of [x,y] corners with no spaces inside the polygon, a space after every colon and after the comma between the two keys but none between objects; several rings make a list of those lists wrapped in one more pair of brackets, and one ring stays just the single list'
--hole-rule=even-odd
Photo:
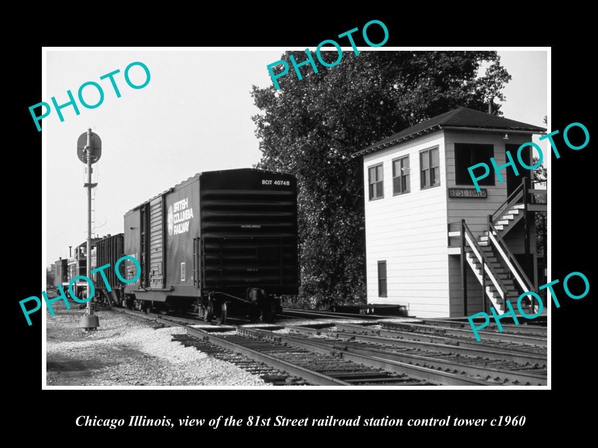
[{"label": "dark British Columbia Railway boxcar numbered BCIT 40748", "polygon": [[[141,264],[124,288],[129,306],[193,302],[208,321],[227,311],[270,321],[277,296],[298,293],[297,179],[251,168],[196,174],[127,212],[124,253]],[[135,276],[127,260],[126,278]]]}]

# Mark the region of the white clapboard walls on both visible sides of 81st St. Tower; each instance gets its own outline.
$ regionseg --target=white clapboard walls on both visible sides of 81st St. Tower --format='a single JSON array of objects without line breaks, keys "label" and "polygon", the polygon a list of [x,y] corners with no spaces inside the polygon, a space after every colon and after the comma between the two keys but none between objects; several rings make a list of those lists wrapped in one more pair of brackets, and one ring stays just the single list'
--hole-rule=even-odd
[{"label": "white clapboard walls on both visible sides of 81st St. Tower", "polygon": [[[507,199],[507,168],[501,170],[499,182],[490,160],[490,176],[495,185],[481,186],[487,198],[450,198],[449,188],[474,188],[455,184],[454,144],[484,143],[494,146],[498,165],[506,161],[505,143],[521,145],[530,142],[531,134],[504,134],[488,131],[438,130],[413,140],[364,156],[365,238],[368,303],[391,303],[407,306],[410,315],[419,317],[456,317],[464,314],[460,261],[449,255],[448,223],[465,219],[475,237],[487,231],[487,216]],[[420,189],[420,151],[438,146],[440,186]],[[409,155],[410,192],[392,194],[392,160]],[[512,154],[515,159],[517,154]],[[384,197],[368,198],[368,167],[383,163]],[[511,168],[508,168],[511,170]],[[531,176],[518,167],[520,176]],[[505,235],[513,253],[523,253],[523,225],[519,222]],[[458,240],[451,239],[451,244]],[[530,229],[530,246],[536,252],[535,229]],[[378,296],[378,262],[386,261],[387,297]],[[468,270],[467,314],[482,311],[482,287]]]}]

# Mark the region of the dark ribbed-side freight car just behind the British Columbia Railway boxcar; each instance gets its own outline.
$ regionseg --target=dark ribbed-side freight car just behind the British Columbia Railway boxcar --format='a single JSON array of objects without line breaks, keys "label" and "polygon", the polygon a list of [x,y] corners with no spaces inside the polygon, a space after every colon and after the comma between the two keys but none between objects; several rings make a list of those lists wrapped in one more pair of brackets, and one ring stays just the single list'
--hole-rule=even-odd
[{"label": "dark ribbed-side freight car just behind the British Columbia Railway boxcar", "polygon": [[[121,303],[123,297],[122,291],[124,283],[120,281],[116,275],[116,262],[124,254],[124,234],[106,235],[101,240],[96,241],[96,247],[91,250],[91,269],[99,266],[110,265],[109,268],[103,269],[103,273],[108,280],[110,291],[106,287],[106,283],[102,278],[100,272],[91,274],[91,280],[96,287],[97,300],[106,302],[109,305],[117,305]],[[121,262],[118,266],[120,275],[124,278],[124,263]]]}]

